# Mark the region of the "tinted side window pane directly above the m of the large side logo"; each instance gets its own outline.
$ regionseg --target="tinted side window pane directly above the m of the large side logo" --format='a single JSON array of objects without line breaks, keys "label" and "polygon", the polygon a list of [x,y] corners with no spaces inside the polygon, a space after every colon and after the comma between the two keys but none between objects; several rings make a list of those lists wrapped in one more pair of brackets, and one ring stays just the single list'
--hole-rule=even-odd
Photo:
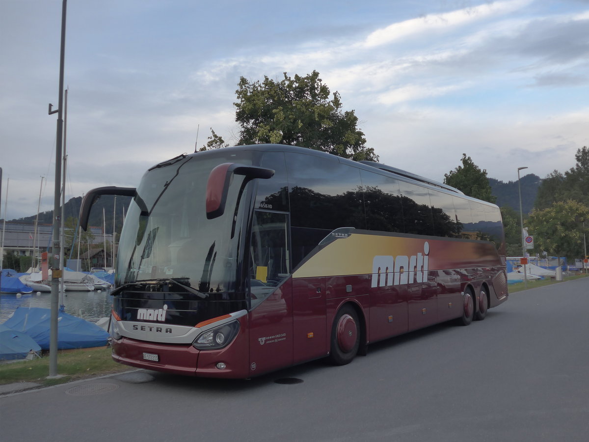
[{"label": "tinted side window pane directly above the m of the large side logo", "polygon": [[399,181],[362,170],[366,228],[383,232],[404,232]]}]

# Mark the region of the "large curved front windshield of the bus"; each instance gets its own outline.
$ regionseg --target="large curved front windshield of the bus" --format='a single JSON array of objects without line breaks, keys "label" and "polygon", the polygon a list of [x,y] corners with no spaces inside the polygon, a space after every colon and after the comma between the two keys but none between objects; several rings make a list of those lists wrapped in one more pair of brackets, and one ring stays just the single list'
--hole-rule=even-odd
[{"label": "large curved front windshield of the bus", "polygon": [[[244,156],[228,160],[250,165]],[[203,294],[240,289],[243,176],[231,177],[224,214],[206,216],[207,178],[223,160],[186,157],[145,173],[121,233],[118,286],[172,279]]]}]

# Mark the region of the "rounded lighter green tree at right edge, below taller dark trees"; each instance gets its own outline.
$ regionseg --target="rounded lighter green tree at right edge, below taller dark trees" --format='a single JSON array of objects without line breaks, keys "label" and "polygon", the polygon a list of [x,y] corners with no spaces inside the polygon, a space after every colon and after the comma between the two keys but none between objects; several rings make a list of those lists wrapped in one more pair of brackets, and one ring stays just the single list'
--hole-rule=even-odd
[{"label": "rounded lighter green tree at right edge, below taller dark trees", "polygon": [[547,209],[533,210],[527,222],[534,236],[534,251],[569,259],[583,256],[583,221],[589,233],[589,207],[577,201],[555,202]]}]

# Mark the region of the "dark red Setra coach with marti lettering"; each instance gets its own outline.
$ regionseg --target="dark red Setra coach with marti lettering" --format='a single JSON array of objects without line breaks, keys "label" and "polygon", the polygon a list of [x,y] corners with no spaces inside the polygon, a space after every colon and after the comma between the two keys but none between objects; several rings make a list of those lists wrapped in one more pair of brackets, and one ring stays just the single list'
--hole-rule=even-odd
[{"label": "dark red Setra coach with marti lettering", "polygon": [[183,154],[133,196],[112,291],[112,357],[133,367],[249,378],[507,297],[494,204],[369,161],[257,144]]}]

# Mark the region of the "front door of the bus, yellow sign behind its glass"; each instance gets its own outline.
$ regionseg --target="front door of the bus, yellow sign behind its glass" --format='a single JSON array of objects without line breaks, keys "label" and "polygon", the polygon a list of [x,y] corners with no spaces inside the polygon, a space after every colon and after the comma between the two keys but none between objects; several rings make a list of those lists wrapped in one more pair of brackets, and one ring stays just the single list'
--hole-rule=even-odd
[{"label": "front door of the bus, yellow sign behind its glass", "polygon": [[256,210],[249,250],[250,375],[293,363],[288,214]]}]

